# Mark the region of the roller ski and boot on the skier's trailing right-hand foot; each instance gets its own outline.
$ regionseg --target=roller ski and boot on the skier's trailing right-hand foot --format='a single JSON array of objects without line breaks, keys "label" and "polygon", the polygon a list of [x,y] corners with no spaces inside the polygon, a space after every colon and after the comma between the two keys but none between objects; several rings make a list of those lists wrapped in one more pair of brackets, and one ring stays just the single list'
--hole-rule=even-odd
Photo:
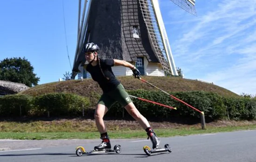
[{"label": "roller ski and boot on the skier's trailing right-hand foot", "polygon": [[169,144],[165,144],[164,148],[158,148],[160,144],[159,138],[156,136],[155,132],[153,130],[148,131],[148,138],[150,138],[152,144],[153,144],[153,150],[149,146],[144,146],[143,150],[144,152],[150,156],[151,153],[159,153],[159,152],[172,152],[172,149],[170,148]]}]

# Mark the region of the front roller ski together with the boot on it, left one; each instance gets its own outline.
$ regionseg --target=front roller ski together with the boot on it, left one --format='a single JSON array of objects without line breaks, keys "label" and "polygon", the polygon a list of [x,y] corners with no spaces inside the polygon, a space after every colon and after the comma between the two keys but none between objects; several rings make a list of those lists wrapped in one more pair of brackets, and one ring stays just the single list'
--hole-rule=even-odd
[{"label": "front roller ski together with the boot on it, left one", "polygon": [[108,139],[108,137],[102,138],[102,143],[99,146],[95,146],[94,150],[86,151],[84,147],[79,146],[77,147],[76,150],[76,155],[77,156],[82,156],[83,154],[88,155],[88,154],[98,154],[98,153],[109,153],[109,152],[116,152],[117,154],[121,153],[121,146],[120,145],[115,145],[114,150],[111,149],[111,144]]}]

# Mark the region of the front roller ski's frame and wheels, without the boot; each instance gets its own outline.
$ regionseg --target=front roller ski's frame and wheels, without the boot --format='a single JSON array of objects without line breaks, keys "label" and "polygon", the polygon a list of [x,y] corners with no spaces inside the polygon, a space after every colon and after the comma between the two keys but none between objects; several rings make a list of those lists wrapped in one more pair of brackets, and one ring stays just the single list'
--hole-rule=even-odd
[{"label": "front roller ski's frame and wheels, without the boot", "polygon": [[89,155],[89,154],[98,154],[98,153],[110,153],[110,152],[115,152],[117,154],[121,153],[121,146],[119,144],[114,146],[114,150],[91,150],[91,151],[86,151],[84,147],[79,146],[75,149],[75,153],[77,156],[82,156],[83,154]]}]

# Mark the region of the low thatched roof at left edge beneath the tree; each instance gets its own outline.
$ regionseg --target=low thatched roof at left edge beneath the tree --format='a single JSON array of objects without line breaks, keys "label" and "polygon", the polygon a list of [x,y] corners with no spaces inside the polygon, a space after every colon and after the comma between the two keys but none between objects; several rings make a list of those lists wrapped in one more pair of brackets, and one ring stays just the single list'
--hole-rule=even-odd
[{"label": "low thatched roof at left edge beneath the tree", "polygon": [[28,88],[25,84],[0,80],[0,95],[16,94]]}]

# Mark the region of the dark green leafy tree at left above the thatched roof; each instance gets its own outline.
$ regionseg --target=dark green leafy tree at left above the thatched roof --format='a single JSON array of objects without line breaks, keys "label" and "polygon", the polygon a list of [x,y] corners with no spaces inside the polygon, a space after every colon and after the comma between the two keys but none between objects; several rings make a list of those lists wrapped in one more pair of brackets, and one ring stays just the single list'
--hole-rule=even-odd
[{"label": "dark green leafy tree at left above the thatched roof", "polygon": [[0,61],[0,80],[23,83],[32,87],[38,85],[40,77],[36,77],[33,66],[25,57],[13,57]]}]

